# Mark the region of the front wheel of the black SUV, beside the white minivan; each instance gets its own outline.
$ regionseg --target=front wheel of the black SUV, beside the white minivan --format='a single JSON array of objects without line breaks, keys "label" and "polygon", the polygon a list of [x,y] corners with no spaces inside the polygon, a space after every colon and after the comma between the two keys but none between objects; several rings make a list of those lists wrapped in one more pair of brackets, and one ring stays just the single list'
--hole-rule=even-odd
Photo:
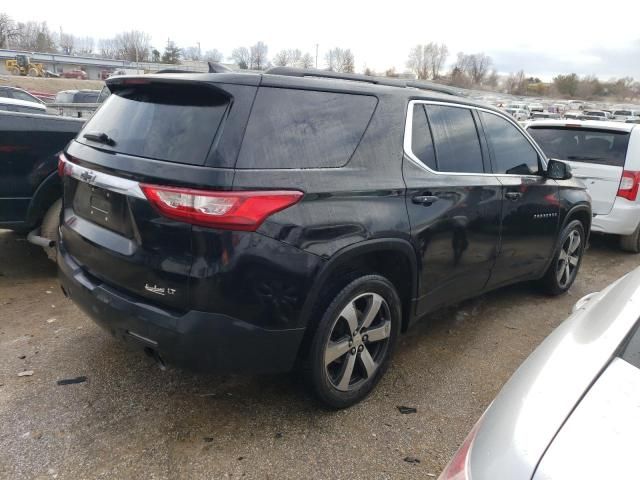
[{"label": "front wheel of the black SUV, beside the white minivan", "polygon": [[542,287],[548,294],[561,295],[571,288],[582,263],[585,243],[582,223],[572,220],[562,230],[553,260],[542,278]]}]

